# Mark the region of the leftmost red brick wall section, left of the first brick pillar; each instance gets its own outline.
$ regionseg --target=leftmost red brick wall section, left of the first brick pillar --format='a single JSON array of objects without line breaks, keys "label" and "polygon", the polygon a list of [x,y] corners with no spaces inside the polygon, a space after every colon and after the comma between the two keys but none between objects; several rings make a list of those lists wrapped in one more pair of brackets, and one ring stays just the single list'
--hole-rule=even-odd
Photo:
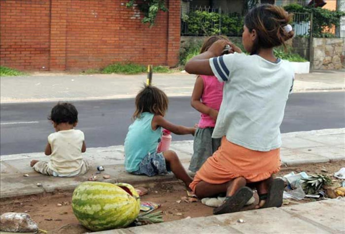
[{"label": "leftmost red brick wall section, left of the first brick pillar", "polygon": [[[49,67],[49,1],[0,1],[1,65]],[[44,68],[42,68],[44,67]]]}]

